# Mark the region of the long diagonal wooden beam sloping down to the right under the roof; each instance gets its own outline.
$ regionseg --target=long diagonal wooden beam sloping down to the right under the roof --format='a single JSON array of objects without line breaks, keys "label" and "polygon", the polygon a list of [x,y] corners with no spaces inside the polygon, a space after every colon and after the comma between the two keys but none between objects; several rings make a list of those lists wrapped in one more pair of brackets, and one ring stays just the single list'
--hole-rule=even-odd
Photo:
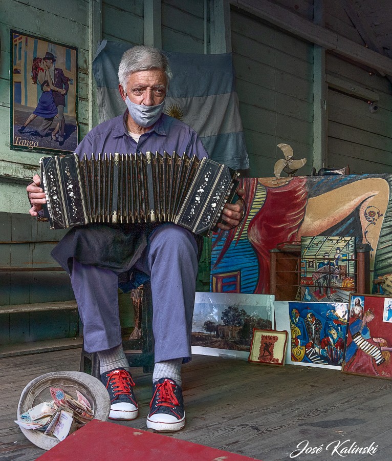
[{"label": "long diagonal wooden beam sloping down to the right under the roof", "polygon": [[392,75],[392,59],[325,29],[269,0],[230,0],[244,10],[326,50],[353,59],[386,75]]}]

